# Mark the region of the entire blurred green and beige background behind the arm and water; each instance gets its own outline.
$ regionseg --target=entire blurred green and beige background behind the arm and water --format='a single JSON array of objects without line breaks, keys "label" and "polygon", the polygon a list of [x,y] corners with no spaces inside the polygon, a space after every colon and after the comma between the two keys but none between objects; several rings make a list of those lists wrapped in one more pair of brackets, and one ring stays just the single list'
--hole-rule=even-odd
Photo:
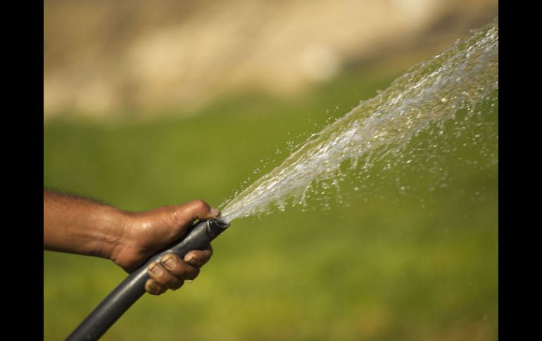
[{"label": "entire blurred green and beige background behind the arm and water", "polygon": [[[44,186],[130,211],[219,206],[496,12],[494,0],[46,0]],[[193,283],[145,295],[102,340],[498,339],[498,106],[465,128],[420,134],[414,162],[374,165],[359,191],[348,177],[329,210],[312,198],[307,212],[232,221]],[[123,278],[44,251],[44,340]]]}]

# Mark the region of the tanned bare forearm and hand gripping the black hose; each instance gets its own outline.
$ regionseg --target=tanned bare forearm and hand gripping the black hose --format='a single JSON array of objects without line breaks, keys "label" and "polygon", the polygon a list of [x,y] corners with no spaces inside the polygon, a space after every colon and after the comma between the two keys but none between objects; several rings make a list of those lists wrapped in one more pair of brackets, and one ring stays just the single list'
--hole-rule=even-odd
[{"label": "tanned bare forearm and hand gripping the black hose", "polygon": [[[203,200],[126,212],[75,195],[44,189],[44,250],[111,259],[127,272],[187,233],[196,220],[218,219],[220,212]],[[164,255],[147,267],[146,292],[160,295],[193,280],[213,255],[210,245],[192,250],[183,259]]]}]

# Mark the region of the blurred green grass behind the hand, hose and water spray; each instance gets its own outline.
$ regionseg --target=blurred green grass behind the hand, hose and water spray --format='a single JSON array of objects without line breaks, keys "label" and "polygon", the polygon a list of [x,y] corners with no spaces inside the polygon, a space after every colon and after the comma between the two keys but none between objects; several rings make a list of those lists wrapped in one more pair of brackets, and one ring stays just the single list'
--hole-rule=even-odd
[{"label": "blurred green grass behind the hand, hose and water spray", "polygon": [[[218,206],[403,71],[350,70],[296,98],[242,94],[185,118],[46,122],[44,184],[125,210]],[[497,113],[479,120],[496,130]],[[417,165],[375,165],[363,192],[348,179],[348,205],[233,221],[194,283],[145,295],[103,340],[495,340],[498,163],[458,162],[485,160],[475,133],[436,140],[450,147],[437,158],[449,186],[434,186],[421,136]],[[124,277],[104,259],[44,252],[44,340],[62,340]]]}]

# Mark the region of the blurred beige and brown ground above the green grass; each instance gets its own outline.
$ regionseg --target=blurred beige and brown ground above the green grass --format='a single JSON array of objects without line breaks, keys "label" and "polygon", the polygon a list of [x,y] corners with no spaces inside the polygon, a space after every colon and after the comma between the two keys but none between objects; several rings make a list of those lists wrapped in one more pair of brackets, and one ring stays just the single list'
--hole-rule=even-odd
[{"label": "blurred beige and brown ground above the green grass", "polygon": [[296,94],[497,14],[497,0],[45,0],[44,120]]}]

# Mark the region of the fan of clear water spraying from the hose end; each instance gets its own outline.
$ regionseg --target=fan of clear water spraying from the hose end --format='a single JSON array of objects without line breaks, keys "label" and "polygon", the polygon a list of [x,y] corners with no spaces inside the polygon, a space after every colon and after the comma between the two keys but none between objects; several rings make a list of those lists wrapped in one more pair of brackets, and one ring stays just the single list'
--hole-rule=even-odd
[{"label": "fan of clear water spraying from the hose end", "polygon": [[[397,153],[431,124],[453,119],[458,110],[474,115],[477,105],[498,91],[498,18],[431,60],[412,67],[388,89],[362,101],[344,117],[313,134],[282,165],[225,205],[232,221],[266,212],[275,203],[305,194],[317,182],[334,179],[341,164],[370,165]],[[409,160],[405,161],[409,163]],[[356,189],[356,188],[355,188]]]}]

